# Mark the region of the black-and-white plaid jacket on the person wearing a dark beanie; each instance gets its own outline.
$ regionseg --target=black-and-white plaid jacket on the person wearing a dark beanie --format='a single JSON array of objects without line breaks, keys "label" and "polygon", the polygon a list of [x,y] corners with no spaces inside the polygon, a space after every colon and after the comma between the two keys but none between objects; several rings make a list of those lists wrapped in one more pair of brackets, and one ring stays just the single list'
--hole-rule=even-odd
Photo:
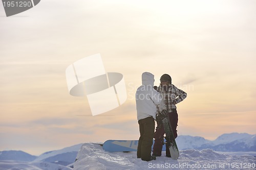
[{"label": "black-and-white plaid jacket on the person wearing a dark beanie", "polygon": [[[160,85],[157,88],[157,91],[161,91],[165,96],[165,105],[167,106],[168,112],[172,112],[171,109],[176,109],[177,107],[173,104],[175,101],[176,104],[180,103],[187,97],[187,93],[183,90],[178,89],[175,85],[170,85],[168,90],[165,91]],[[159,109],[159,108],[158,108]]]}]

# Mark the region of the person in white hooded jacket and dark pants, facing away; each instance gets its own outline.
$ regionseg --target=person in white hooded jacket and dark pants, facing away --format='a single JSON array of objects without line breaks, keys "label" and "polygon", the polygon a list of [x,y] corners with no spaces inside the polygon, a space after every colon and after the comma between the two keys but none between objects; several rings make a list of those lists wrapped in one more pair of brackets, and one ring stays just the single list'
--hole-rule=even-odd
[{"label": "person in white hooded jacket and dark pants, facing away", "polygon": [[163,95],[153,88],[154,81],[153,74],[143,72],[142,85],[136,91],[136,109],[140,130],[137,158],[144,161],[156,159],[155,156],[151,156],[151,149],[155,132],[156,105],[160,104]]}]

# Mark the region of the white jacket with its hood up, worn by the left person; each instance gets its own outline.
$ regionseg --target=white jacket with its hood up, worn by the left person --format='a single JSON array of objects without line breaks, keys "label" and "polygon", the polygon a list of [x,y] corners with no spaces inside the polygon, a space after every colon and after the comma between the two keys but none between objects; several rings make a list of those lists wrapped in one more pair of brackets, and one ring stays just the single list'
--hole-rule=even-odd
[{"label": "white jacket with its hood up, worn by the left person", "polygon": [[157,108],[163,95],[154,88],[154,75],[143,72],[142,85],[136,91],[136,109],[138,120],[153,116],[156,119]]}]

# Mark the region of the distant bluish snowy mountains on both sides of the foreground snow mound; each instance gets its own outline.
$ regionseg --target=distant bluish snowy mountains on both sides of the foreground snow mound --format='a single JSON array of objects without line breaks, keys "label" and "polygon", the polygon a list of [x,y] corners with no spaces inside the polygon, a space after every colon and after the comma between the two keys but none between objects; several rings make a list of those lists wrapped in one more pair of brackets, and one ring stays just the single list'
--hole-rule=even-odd
[{"label": "distant bluish snowy mountains on both sides of the foreground snow mound", "polygon": [[[176,139],[179,150],[212,149],[219,152],[256,152],[256,135],[247,133],[230,133],[219,136],[216,140],[207,140],[199,136],[181,135]],[[2,151],[1,161],[49,162],[53,164],[72,167],[76,155],[81,148],[76,144],[57,151],[50,151],[36,157],[23,151]]]}]

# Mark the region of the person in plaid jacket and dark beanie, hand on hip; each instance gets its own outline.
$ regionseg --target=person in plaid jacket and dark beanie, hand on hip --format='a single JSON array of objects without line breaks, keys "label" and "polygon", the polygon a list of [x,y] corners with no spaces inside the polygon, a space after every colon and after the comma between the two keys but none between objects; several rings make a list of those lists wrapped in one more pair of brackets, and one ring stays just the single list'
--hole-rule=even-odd
[{"label": "person in plaid jacket and dark beanie, hand on hip", "polygon": [[[160,78],[160,86],[156,87],[156,90],[162,92],[165,96],[164,103],[166,110],[168,112],[168,117],[170,120],[170,124],[173,129],[174,137],[178,136],[177,134],[177,126],[178,126],[178,113],[176,104],[180,103],[187,97],[187,93],[183,90],[180,90],[175,85],[172,84],[172,78],[164,74]],[[158,107],[159,111],[159,107]],[[163,147],[163,135],[164,135],[164,128],[162,122],[157,120],[157,128],[154,133],[155,143],[153,146],[153,156],[161,156],[162,147]],[[170,152],[168,150],[168,144],[166,144],[166,156],[170,157]]]}]

